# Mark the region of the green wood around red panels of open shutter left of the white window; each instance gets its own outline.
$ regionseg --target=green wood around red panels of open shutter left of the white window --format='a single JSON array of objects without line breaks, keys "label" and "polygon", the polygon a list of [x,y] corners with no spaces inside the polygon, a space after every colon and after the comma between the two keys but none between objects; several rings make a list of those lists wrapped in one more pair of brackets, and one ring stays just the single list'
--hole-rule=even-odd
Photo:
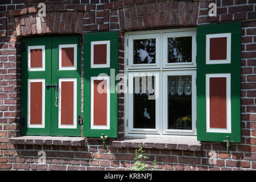
[{"label": "green wood around red panels of open shutter left of the white window", "polygon": [[[110,68],[90,68],[90,44],[92,41],[110,40]],[[114,71],[113,75],[110,71]],[[110,130],[90,128],[90,77],[105,73],[110,76]],[[115,90],[118,73],[118,32],[97,32],[84,34],[84,137],[118,137],[118,95]]]}]

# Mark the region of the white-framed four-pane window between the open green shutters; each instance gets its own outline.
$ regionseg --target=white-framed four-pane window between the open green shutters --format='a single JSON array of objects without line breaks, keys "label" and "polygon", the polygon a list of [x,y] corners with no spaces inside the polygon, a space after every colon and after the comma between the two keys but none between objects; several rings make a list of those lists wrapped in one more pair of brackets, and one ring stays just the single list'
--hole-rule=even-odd
[{"label": "white-framed four-pane window between the open green shutters", "polygon": [[196,135],[195,29],[129,32],[126,40],[126,135]]}]

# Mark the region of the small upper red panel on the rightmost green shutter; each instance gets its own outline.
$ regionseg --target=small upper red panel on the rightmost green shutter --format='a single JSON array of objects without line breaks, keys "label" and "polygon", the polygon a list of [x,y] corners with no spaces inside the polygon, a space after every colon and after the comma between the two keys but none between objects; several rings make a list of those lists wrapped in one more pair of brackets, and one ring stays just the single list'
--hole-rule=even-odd
[{"label": "small upper red panel on the rightmost green shutter", "polygon": [[226,60],[226,38],[210,38],[210,60]]}]

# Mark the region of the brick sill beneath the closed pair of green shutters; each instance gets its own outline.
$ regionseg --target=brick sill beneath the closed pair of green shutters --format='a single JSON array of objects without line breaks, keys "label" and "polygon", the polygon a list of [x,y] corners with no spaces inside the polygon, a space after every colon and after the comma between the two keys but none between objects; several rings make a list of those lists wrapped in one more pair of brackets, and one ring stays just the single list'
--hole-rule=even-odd
[{"label": "brick sill beneath the closed pair of green shutters", "polygon": [[41,136],[23,136],[9,139],[14,144],[46,144],[56,146],[84,146],[85,138],[82,137],[41,137]]}]

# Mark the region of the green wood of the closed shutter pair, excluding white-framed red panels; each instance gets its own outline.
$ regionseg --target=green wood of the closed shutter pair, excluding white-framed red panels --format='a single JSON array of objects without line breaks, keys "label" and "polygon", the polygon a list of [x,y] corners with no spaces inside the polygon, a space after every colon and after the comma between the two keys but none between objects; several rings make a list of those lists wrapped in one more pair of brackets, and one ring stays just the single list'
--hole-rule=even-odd
[{"label": "green wood of the closed shutter pair, excluding white-framed red panels", "polygon": [[[55,89],[45,89],[46,92],[46,114],[45,128],[27,127],[27,80],[30,78],[45,78],[45,84],[58,84],[59,78],[77,78],[77,111],[81,115],[81,47],[79,47],[79,35],[73,36],[54,36],[42,38],[24,38],[22,43],[26,49],[22,52],[22,91],[21,91],[21,117],[25,118],[25,126],[21,127],[22,135],[52,135],[52,136],[81,136],[81,126],[77,123],[76,129],[58,128],[58,108],[55,106]],[[77,70],[59,71],[59,44],[77,44]],[[46,71],[28,72],[27,47],[28,46],[46,46]],[[45,85],[44,85],[45,86]]]}]

